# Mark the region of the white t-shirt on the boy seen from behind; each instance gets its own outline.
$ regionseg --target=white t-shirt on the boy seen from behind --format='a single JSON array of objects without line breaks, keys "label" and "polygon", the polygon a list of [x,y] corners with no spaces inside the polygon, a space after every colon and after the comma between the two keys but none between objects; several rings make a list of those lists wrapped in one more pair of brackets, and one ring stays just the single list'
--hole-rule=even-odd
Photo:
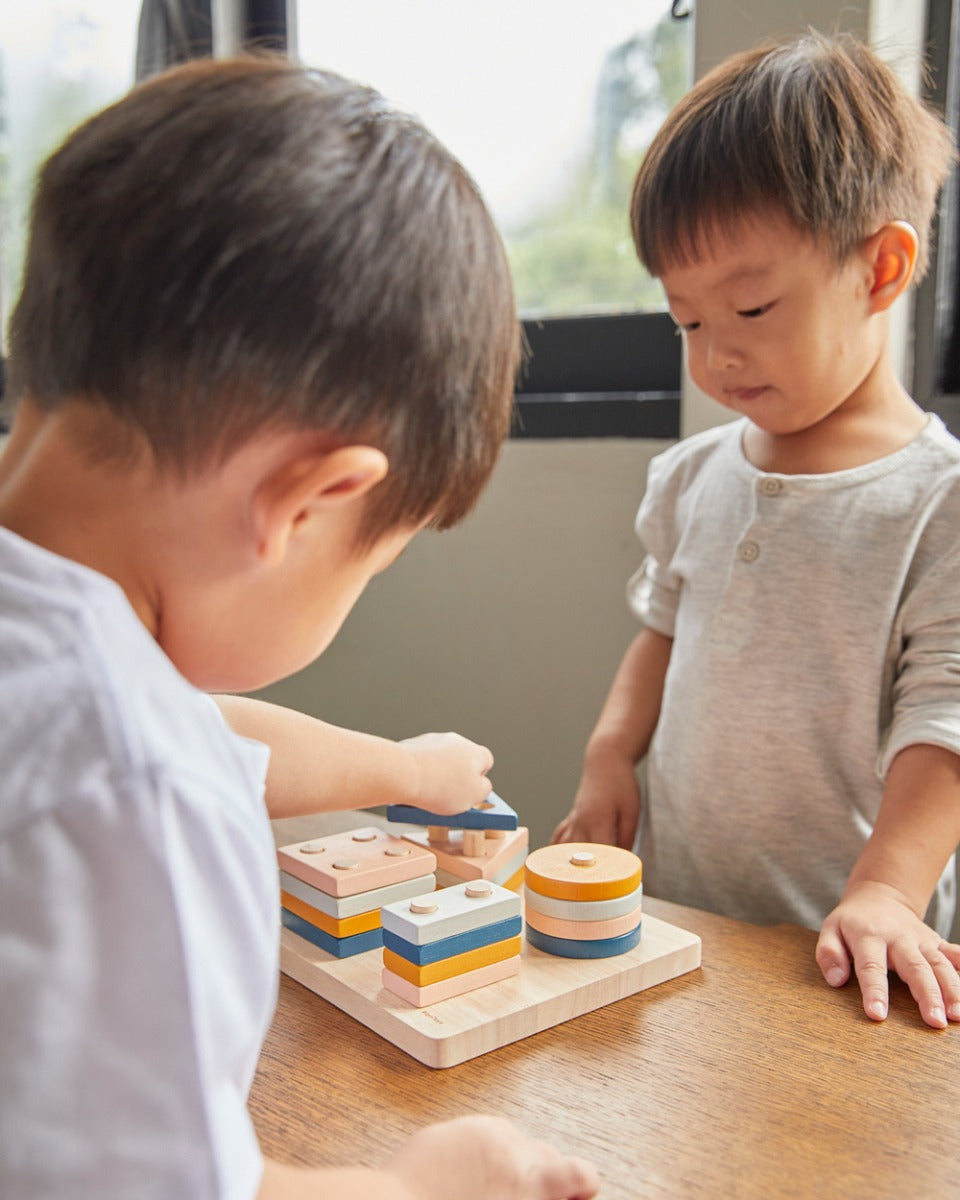
[{"label": "white t-shirt on the boy seen from behind", "polygon": [[265,746],[103,576],[0,529],[0,1196],[250,1200]]}]

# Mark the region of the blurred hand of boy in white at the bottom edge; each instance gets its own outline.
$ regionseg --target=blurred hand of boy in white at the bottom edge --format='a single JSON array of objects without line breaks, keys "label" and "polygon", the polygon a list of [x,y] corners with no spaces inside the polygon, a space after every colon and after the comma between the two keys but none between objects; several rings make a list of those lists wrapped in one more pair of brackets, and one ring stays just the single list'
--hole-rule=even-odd
[{"label": "blurred hand of boy in white at the bottom edge", "polygon": [[589,1200],[600,1190],[594,1168],[499,1117],[461,1117],[430,1126],[386,1169],[412,1200]]}]

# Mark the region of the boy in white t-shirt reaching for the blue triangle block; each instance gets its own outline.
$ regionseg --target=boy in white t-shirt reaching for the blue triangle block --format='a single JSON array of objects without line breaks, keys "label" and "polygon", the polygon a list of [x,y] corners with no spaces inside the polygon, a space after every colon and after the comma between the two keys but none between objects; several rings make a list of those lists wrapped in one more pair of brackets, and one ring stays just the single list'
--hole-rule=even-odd
[{"label": "boy in white t-shirt reaching for the blue triangle block", "polygon": [[595,1194],[492,1117],[380,1170],[263,1162],[268,809],[467,806],[491,756],[205,695],[311,662],[418,529],[463,516],[517,347],[474,185],[337,77],[184,67],[43,168],[0,458],[5,1200]]}]

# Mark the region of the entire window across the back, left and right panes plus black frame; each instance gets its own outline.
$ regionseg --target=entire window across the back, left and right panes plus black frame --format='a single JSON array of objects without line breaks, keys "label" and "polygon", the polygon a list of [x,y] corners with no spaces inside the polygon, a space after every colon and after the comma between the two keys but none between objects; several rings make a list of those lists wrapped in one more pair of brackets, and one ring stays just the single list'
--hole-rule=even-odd
[{"label": "entire window across the back, left and right panes plus black frame", "polygon": [[5,325],[38,163],[132,84],[138,59],[150,73],[209,53],[227,13],[247,41],[295,43],[304,61],[370,82],[474,175],[508,246],[530,349],[516,436],[677,436],[680,343],[628,224],[642,149],[691,77],[692,23],[676,18],[670,0],[594,0],[589,20],[550,0],[11,7],[16,28],[12,16],[0,18]]}]

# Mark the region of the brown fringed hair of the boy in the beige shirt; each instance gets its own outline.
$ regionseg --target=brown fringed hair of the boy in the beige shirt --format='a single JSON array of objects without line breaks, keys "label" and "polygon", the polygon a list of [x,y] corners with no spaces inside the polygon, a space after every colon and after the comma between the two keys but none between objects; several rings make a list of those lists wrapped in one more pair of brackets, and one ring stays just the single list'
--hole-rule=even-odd
[{"label": "brown fringed hair of the boy in the beige shirt", "polygon": [[888,221],[926,268],[949,131],[852,37],[810,32],[727,59],[667,116],[634,184],[630,223],[652,275],[714,229],[781,212],[838,263]]}]

